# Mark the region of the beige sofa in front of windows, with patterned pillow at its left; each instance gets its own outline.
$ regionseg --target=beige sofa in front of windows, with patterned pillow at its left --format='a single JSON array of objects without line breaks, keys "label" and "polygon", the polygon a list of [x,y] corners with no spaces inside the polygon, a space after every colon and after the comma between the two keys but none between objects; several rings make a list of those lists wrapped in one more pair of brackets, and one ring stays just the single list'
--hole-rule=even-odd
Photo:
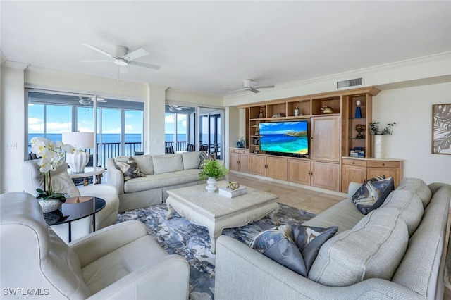
[{"label": "beige sofa in front of windows, with patterned pillow at its left", "polygon": [[[113,158],[108,158],[108,183],[118,189],[119,212],[159,204],[168,198],[168,189],[198,185],[200,151],[182,154],[132,156],[146,176],[124,181]],[[115,159],[127,161],[130,156]]]}]

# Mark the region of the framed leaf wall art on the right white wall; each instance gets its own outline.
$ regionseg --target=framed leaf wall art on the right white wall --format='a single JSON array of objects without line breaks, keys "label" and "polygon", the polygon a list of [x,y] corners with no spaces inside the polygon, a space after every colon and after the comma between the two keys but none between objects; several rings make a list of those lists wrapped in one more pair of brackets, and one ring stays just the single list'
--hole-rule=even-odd
[{"label": "framed leaf wall art on the right white wall", "polygon": [[432,153],[451,154],[451,103],[432,106]]}]

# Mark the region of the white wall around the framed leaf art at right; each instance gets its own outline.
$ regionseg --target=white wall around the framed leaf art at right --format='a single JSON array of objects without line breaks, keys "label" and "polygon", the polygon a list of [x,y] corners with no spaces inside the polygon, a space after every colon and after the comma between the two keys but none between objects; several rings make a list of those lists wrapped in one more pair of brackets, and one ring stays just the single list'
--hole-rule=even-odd
[{"label": "white wall around the framed leaf art at right", "polygon": [[451,103],[451,83],[388,89],[373,97],[373,120],[396,122],[385,157],[404,159],[404,177],[451,184],[451,155],[431,154],[432,105]]}]

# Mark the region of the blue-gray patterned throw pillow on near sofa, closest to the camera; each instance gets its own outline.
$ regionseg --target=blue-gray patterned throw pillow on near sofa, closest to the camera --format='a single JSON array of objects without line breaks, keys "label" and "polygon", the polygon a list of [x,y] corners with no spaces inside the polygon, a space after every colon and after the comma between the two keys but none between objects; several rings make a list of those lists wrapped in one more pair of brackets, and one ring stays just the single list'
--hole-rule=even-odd
[{"label": "blue-gray patterned throw pillow on near sofa, closest to the camera", "polygon": [[338,227],[283,225],[261,232],[249,247],[307,277],[319,249],[337,230]]}]

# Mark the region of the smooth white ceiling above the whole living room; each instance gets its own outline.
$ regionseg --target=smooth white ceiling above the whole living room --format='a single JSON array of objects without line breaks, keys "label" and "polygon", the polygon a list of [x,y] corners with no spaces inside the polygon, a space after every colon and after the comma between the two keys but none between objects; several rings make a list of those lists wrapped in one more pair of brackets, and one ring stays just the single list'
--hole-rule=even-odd
[{"label": "smooth white ceiling above the whole living room", "polygon": [[[121,80],[228,95],[451,51],[451,1],[4,1],[8,61],[118,77],[82,63],[143,48]],[[233,87],[224,87],[233,86]]]}]

